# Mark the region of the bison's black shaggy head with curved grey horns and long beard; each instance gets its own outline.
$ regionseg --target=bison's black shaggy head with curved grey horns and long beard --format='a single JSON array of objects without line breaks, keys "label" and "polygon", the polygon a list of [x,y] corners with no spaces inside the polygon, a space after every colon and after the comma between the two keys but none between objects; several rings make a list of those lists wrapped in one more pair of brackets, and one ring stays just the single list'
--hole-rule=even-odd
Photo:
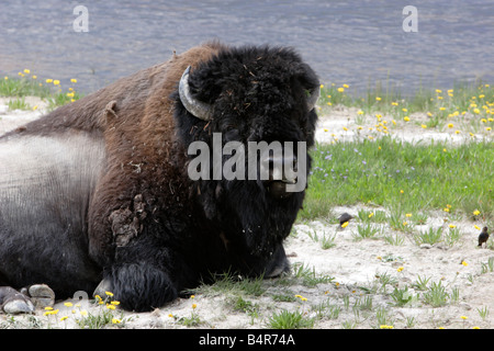
[{"label": "bison's black shaggy head with curved grey horns and long beard", "polygon": [[[178,90],[173,97],[178,136],[186,147],[198,141],[206,145],[201,154],[211,160],[198,166],[205,177],[191,179],[191,194],[204,217],[242,272],[272,275],[279,273],[280,261],[285,270],[282,241],[302,206],[311,165],[307,150],[314,144],[316,75],[290,48],[224,48],[187,68]],[[228,145],[243,146],[240,150],[248,152],[252,143],[276,144],[282,152],[262,156],[256,151],[244,158],[238,157],[238,148],[225,152]],[[189,155],[189,162],[198,154]],[[249,163],[252,157],[256,161]],[[237,176],[243,166],[244,177],[224,177],[225,165]],[[257,166],[254,172],[252,165]],[[290,169],[289,177],[284,170]],[[288,185],[297,181],[304,181],[302,189],[289,191]]]}]

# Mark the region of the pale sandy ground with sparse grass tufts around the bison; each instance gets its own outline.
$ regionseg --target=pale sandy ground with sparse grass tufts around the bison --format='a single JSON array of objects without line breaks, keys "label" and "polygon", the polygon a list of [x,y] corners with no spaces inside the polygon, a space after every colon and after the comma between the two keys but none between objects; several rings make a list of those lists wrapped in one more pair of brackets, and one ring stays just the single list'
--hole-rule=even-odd
[{"label": "pale sandy ground with sparse grass tufts around the bison", "polygon": [[[0,134],[22,125],[43,114],[45,105],[35,98],[30,99],[30,105],[37,105],[36,111],[8,111],[7,99],[0,101]],[[427,118],[425,115],[413,116],[413,121]],[[385,120],[385,117],[383,117]],[[359,124],[356,123],[359,121]],[[448,128],[423,129],[420,122],[388,124],[389,133],[407,141],[448,140],[453,144],[471,140],[468,133],[454,134]],[[316,138],[319,143],[333,140],[350,140],[352,138],[379,137],[380,132],[369,131],[375,128],[375,118],[367,116],[357,118],[356,109],[335,109],[321,117]],[[359,126],[361,128],[359,129]],[[346,127],[348,131],[345,131]],[[446,129],[446,131],[445,131]],[[467,135],[465,135],[467,134]],[[487,137],[479,133],[475,139]],[[357,215],[363,206],[348,206],[333,208],[333,213],[339,215],[348,212]],[[368,211],[385,211],[384,208],[366,207]],[[445,213],[431,213],[427,223],[417,226],[415,230],[438,228],[447,226]],[[355,235],[359,219],[350,220],[349,225],[338,230],[338,225],[311,222],[294,226],[293,235],[285,242],[285,250],[292,264],[302,263],[314,269],[316,275],[329,275],[334,278],[328,283],[316,286],[304,284],[281,284],[278,280],[266,282],[267,291],[258,297],[244,295],[244,299],[256,306],[256,314],[235,310],[233,297],[238,293],[223,292],[210,294],[197,294],[193,299],[179,298],[171,304],[151,313],[130,313],[119,308],[105,309],[89,301],[57,302],[54,309],[57,315],[44,316],[44,310],[36,310],[34,315],[8,316],[0,314],[0,326],[3,328],[79,328],[76,320],[88,318],[89,315],[102,315],[111,313],[113,317],[122,320],[122,324],[108,325],[109,328],[190,328],[184,321],[195,316],[200,324],[191,328],[215,329],[250,329],[268,328],[270,317],[282,309],[302,312],[304,318],[315,318],[315,329],[379,328],[382,324],[378,320],[378,314],[385,312],[388,325],[394,328],[492,328],[494,326],[494,273],[483,272],[490,258],[494,253],[490,249],[480,249],[476,246],[479,230],[476,224],[482,227],[482,222],[472,222],[465,218],[454,218],[454,225],[460,228],[462,236],[459,242],[449,247],[445,242],[436,245],[418,246],[412,235],[395,233],[383,225],[383,233],[391,236],[404,237],[400,246],[385,241],[382,236],[377,239],[356,240]],[[314,234],[322,236],[335,236],[334,247],[323,249],[321,241],[314,240]],[[383,276],[392,278],[393,283],[382,291],[379,283]],[[408,286],[409,296],[423,296],[424,292],[413,287],[420,278],[428,278],[429,285],[441,283],[450,295],[453,290],[459,291],[459,298],[442,307],[431,307],[424,303],[424,298],[412,298],[405,306],[395,306],[390,293],[395,288]],[[290,296],[301,295],[302,301],[278,302],[277,294]],[[356,308],[366,298],[372,298],[370,308]],[[66,306],[71,303],[72,306]],[[75,306],[79,303],[80,306]],[[195,308],[192,308],[192,305]],[[327,304],[339,307],[339,315],[330,317],[328,308],[322,315],[317,315],[315,306]],[[479,310],[487,309],[489,314],[482,318]],[[86,315],[86,316],[85,316]],[[67,318],[63,318],[63,317]],[[64,320],[60,320],[64,319]]]}]

